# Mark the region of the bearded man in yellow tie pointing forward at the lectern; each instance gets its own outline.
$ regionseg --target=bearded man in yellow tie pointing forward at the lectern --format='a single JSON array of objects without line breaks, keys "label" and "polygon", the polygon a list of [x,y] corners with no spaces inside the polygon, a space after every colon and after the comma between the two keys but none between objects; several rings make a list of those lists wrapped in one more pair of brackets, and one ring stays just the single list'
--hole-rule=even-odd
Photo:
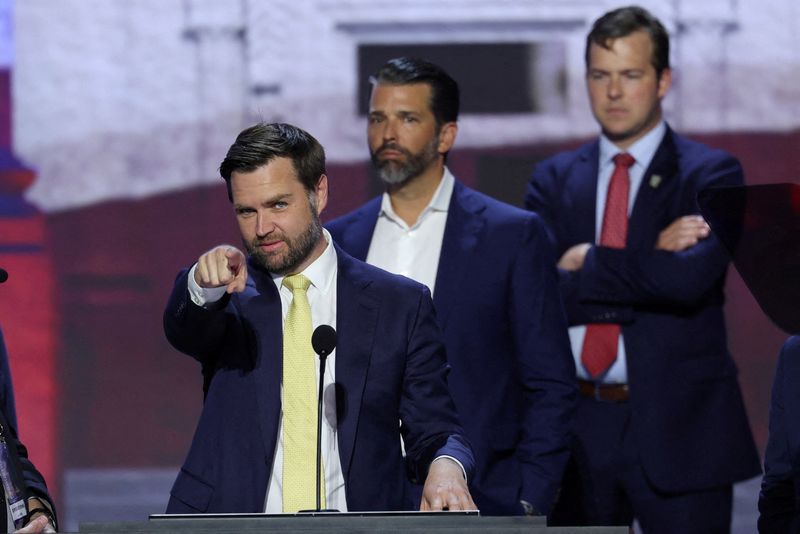
[{"label": "bearded man in yellow tie pointing forward at the lectern", "polygon": [[[285,380],[287,362],[319,366],[310,343],[299,359],[297,350],[283,352],[306,343],[284,336],[304,321],[338,330],[323,382],[323,507],[401,509],[408,472],[425,482],[423,510],[474,509],[466,482],[472,453],[447,391],[430,295],[351,258],[323,230],[328,180],[319,143],[291,125],[259,124],[239,134],[220,172],[248,254],[221,245],[200,256],[179,274],[164,314],[170,342],[202,364],[206,393],[167,512],[314,508],[313,473],[297,484],[308,471],[287,467],[297,463],[299,443],[308,448],[316,439],[316,431],[296,435],[310,424],[287,424],[302,403],[314,405],[317,422],[316,393],[298,396]],[[290,321],[301,307],[305,319]],[[316,392],[313,377],[303,386]],[[314,456],[305,463],[313,466]],[[287,495],[287,484],[301,495]],[[289,497],[304,504],[289,506]]]}]

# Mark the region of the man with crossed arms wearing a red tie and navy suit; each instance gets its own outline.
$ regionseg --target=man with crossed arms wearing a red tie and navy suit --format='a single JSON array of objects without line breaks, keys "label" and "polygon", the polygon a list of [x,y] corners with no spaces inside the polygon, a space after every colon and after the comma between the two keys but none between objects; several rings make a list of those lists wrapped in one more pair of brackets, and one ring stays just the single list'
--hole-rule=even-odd
[{"label": "man with crossed arms wearing a red tie and navy suit", "polygon": [[732,484],[759,465],[726,343],[728,260],[696,195],[742,169],[664,123],[669,37],[647,11],[598,19],[586,68],[600,139],[542,162],[526,196],[560,258],[582,393],[558,515],[728,532]]}]

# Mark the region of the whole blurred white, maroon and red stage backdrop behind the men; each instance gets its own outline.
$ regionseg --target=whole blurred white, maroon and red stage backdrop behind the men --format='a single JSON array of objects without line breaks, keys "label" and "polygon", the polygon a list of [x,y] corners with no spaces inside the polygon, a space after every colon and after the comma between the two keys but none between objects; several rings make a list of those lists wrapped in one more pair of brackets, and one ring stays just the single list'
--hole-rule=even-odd
[{"label": "whole blurred white, maroon and red stage backdrop behind the men", "polygon": [[[647,1],[673,38],[676,129],[800,176],[793,0]],[[368,74],[417,54],[460,82],[449,165],[518,204],[537,161],[596,134],[584,86],[597,0],[0,0],[0,324],[23,439],[81,520],[160,512],[201,408],[198,365],[164,340],[177,270],[239,238],[217,167],[258,120],[327,149],[327,220],[379,191]],[[5,92],[4,92],[5,91]],[[12,98],[13,97],[13,98]],[[731,273],[730,345],[759,445],[785,337]],[[737,528],[753,531],[754,495]],[[737,494],[738,495],[738,494]],[[737,497],[738,498],[738,497]]]}]

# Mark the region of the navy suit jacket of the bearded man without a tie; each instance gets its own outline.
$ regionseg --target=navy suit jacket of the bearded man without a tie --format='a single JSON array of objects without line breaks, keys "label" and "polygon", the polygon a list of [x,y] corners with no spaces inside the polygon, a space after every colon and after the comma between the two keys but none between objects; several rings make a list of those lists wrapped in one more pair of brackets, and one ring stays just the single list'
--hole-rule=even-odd
[{"label": "navy suit jacket of the bearded man without a tie", "polygon": [[[357,258],[366,259],[380,202],[327,225]],[[553,262],[538,217],[456,181],[433,302],[483,514],[520,513],[520,499],[546,513],[561,483],[575,369]]]}]

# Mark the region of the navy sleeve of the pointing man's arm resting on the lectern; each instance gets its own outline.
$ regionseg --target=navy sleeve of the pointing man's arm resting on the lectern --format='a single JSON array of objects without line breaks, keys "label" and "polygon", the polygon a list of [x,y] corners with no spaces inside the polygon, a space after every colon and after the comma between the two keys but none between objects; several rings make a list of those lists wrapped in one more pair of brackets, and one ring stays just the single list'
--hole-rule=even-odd
[{"label": "navy sleeve of the pointing man's arm resting on the lectern", "polygon": [[475,462],[447,388],[449,366],[427,288],[408,339],[400,420],[410,478],[423,483],[431,461],[447,454],[461,462],[469,479]]}]

